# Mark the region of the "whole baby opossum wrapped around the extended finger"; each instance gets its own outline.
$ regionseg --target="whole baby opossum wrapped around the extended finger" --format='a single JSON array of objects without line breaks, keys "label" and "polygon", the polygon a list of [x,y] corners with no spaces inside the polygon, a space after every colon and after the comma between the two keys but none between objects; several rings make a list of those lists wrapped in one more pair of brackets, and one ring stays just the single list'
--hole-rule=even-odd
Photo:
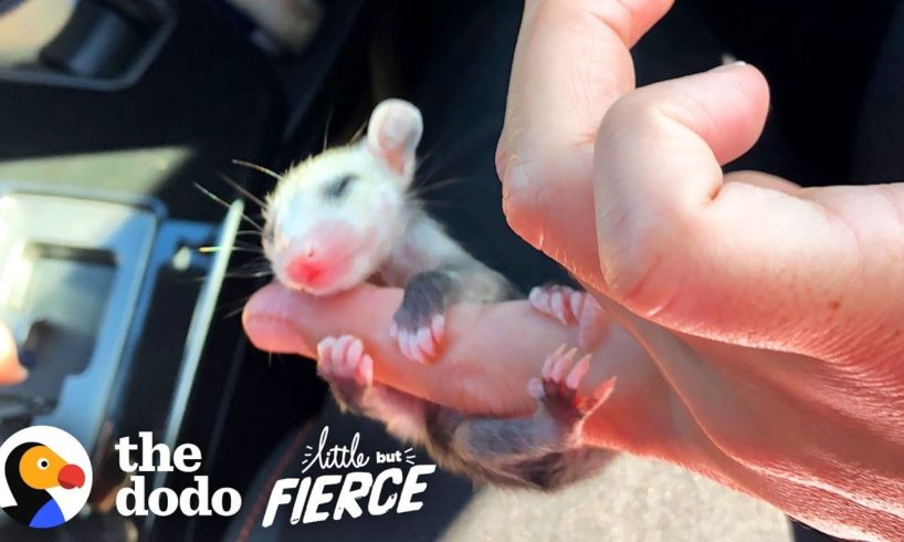
[{"label": "whole baby opossum wrapped around the extended finger", "polygon": [[[512,284],[475,260],[408,192],[423,129],[420,111],[387,100],[372,112],[366,137],[325,150],[288,169],[267,197],[264,253],[290,289],[327,295],[367,280],[403,286],[389,332],[421,363],[442,344],[444,313],[454,303],[517,296]],[[534,289],[530,302],[563,323],[592,302],[564,286]],[[374,362],[356,337],[317,346],[318,372],[339,405],[380,420],[398,438],[423,445],[441,466],[474,481],[554,489],[595,472],[609,457],[584,446],[587,417],[614,379],[589,396],[577,392],[589,356],[550,354],[528,393],[537,409],[525,418],[481,418],[374,383]]]}]

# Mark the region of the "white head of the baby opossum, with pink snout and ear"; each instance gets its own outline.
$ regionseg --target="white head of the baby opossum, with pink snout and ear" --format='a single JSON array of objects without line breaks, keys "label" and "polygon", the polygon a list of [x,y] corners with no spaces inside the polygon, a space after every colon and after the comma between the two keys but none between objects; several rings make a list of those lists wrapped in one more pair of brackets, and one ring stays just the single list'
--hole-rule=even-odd
[{"label": "white head of the baby opossum, with pink snout and ear", "polygon": [[290,168],[267,197],[264,254],[287,288],[317,295],[366,281],[404,234],[406,191],[423,132],[421,113],[381,102],[367,136]]}]

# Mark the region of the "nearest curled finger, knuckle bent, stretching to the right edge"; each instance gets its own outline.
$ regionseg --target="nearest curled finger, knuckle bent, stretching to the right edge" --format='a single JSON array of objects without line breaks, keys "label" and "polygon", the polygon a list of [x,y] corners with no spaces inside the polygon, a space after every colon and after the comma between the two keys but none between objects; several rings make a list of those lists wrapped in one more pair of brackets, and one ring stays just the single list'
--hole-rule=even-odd
[{"label": "nearest curled finger, knuckle bent, stretching to the right edge", "polygon": [[904,288],[904,190],[723,177],[767,105],[761,74],[734,65],[609,111],[595,156],[599,288],[675,331],[838,359],[877,319],[900,330],[887,292]]}]

